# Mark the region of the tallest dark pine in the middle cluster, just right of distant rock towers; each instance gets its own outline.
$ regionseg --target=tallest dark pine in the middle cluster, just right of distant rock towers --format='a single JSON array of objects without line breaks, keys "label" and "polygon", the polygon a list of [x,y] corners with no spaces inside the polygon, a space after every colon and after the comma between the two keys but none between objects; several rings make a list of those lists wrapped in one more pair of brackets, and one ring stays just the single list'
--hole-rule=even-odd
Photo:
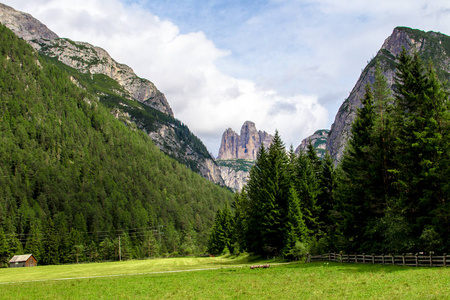
[{"label": "tallest dark pine in the middle cluster, just right of distant rock towers", "polygon": [[283,249],[290,194],[288,163],[277,131],[268,152],[263,146],[259,149],[246,187],[249,200],[246,245],[251,252],[278,255]]}]

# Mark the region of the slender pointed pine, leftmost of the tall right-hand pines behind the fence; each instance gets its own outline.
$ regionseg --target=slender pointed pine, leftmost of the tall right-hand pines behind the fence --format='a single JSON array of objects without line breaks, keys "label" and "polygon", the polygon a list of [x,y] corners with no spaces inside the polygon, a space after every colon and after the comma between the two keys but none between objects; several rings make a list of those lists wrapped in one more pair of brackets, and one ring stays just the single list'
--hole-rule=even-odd
[{"label": "slender pointed pine, leftmost of the tall right-hand pines behind the fence", "polygon": [[[338,211],[340,213],[340,231],[347,240],[348,251],[370,251],[371,245],[366,239],[368,224],[373,220],[371,204],[373,201],[376,164],[373,159],[373,127],[375,113],[373,93],[366,85],[362,107],[352,124],[352,138],[341,162],[342,177],[338,186]],[[369,243],[371,243],[370,241]]]}]

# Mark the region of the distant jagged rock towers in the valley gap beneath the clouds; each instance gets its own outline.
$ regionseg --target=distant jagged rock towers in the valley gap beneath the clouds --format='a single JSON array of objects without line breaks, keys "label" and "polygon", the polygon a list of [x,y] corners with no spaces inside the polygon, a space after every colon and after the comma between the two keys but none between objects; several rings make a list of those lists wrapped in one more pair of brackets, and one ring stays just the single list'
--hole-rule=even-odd
[{"label": "distant jagged rock towers in the valley gap beneath the clouds", "polygon": [[238,135],[231,128],[225,130],[217,159],[249,159],[256,160],[259,147],[269,147],[273,136],[265,131],[256,130],[255,123],[246,121]]}]

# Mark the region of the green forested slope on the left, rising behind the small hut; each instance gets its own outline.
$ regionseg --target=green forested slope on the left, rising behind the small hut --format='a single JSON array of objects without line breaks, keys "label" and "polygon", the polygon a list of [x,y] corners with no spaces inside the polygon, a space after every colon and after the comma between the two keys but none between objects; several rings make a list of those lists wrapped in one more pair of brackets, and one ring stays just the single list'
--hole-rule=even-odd
[{"label": "green forested slope on the left, rising behind the small hut", "polygon": [[204,253],[232,200],[3,26],[0,139],[0,266]]}]

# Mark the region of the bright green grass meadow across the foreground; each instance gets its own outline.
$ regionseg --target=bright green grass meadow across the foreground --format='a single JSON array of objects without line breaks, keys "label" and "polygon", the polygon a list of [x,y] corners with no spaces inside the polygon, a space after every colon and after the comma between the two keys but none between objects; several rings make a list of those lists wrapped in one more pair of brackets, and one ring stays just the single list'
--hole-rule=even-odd
[{"label": "bright green grass meadow across the foreground", "polygon": [[[0,269],[0,298],[450,298],[449,268],[321,262],[272,264],[269,269],[251,270],[251,263],[245,257],[173,258]],[[175,272],[178,270],[182,272]]]}]

